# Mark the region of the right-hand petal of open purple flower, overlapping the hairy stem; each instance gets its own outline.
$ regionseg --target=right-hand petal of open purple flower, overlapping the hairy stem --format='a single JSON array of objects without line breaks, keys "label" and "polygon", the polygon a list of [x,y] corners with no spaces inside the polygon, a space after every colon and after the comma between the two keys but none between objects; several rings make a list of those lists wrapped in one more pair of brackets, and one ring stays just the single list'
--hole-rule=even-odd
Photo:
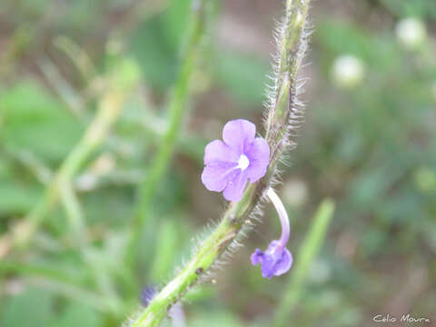
[{"label": "right-hand petal of open purple flower, overlapping the hairy stem", "polygon": [[265,175],[270,163],[270,146],[262,137],[256,137],[245,149],[245,155],[250,161],[246,170],[250,183],[257,182]]}]

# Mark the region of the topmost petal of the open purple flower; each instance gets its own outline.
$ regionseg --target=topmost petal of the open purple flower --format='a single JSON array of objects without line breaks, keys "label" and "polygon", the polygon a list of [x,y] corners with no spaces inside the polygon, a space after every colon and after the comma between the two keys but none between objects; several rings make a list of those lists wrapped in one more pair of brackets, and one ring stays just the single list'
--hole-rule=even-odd
[{"label": "topmost petal of the open purple flower", "polygon": [[223,128],[223,140],[238,154],[243,154],[244,148],[251,144],[256,134],[256,126],[244,119],[228,122]]}]

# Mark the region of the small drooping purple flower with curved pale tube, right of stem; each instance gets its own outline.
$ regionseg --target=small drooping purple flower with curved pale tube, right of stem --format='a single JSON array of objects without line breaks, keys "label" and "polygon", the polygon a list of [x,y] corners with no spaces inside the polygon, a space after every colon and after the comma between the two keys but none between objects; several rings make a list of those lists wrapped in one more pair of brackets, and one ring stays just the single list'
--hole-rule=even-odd
[{"label": "small drooping purple flower with curved pale tube, right of stem", "polygon": [[280,240],[273,240],[264,253],[256,249],[251,259],[253,265],[261,263],[263,278],[271,279],[272,276],[280,276],[291,269],[292,254],[286,249],[290,233],[288,214],[282,201],[271,188],[268,190],[267,195],[274,204],[277,213],[279,213],[280,223],[282,223],[282,235]]}]

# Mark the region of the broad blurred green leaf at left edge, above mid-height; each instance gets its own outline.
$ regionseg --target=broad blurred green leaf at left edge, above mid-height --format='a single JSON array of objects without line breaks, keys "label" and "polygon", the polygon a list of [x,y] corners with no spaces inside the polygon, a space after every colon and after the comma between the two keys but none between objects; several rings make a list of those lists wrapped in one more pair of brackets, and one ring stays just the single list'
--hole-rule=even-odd
[{"label": "broad blurred green leaf at left edge, above mid-height", "polygon": [[0,115],[5,146],[11,151],[29,150],[43,160],[60,161],[83,132],[64,105],[33,82],[7,90],[0,97]]}]

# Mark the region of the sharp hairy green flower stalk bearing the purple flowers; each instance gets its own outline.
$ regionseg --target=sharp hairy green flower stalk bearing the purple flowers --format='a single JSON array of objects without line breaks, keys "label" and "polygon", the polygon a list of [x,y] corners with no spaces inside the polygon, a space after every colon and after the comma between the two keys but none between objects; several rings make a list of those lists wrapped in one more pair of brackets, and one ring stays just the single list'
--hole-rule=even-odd
[{"label": "sharp hairy green flower stalk bearing the purple flowers", "polygon": [[223,214],[223,219],[213,232],[198,245],[190,261],[171,282],[163,287],[152,302],[131,319],[130,327],[157,326],[163,320],[166,312],[182,299],[195,282],[198,282],[213,263],[233,244],[244,225],[247,225],[250,215],[259,210],[263,193],[270,187],[276,172],[276,165],[282,153],[290,144],[289,130],[295,123],[295,116],[301,113],[302,105],[298,102],[297,72],[302,63],[306,49],[306,24],[309,0],[287,2],[286,15],[278,35],[278,64],[276,66],[276,82],[270,94],[270,108],[266,120],[267,140],[272,149],[268,172],[258,183],[248,186],[243,199],[238,203],[230,203]]}]

